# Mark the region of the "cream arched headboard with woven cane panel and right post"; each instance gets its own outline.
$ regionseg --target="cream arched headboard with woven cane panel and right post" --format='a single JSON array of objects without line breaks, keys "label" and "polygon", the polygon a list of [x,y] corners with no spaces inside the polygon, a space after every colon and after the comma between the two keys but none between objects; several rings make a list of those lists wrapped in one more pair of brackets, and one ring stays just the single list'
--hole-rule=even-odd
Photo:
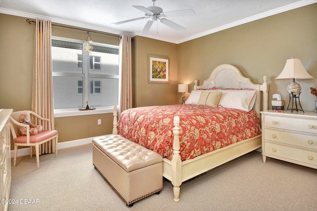
[{"label": "cream arched headboard with woven cane panel and right post", "polygon": [[[196,89],[209,89],[217,87],[218,89],[233,88],[233,89],[254,89],[256,90],[256,102],[254,109],[260,116],[262,95],[263,95],[263,110],[268,107],[268,84],[267,77],[263,77],[263,84],[254,84],[251,79],[244,77],[240,70],[232,65],[223,64],[216,67],[210,77],[204,81],[202,85],[198,85],[195,80],[194,90]],[[261,94],[261,91],[263,94]]]}]

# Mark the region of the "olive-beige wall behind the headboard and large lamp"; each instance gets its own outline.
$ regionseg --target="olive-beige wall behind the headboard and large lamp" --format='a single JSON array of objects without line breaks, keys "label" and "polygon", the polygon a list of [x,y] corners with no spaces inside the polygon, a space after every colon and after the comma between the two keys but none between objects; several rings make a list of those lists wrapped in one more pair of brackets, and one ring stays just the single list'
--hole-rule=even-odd
[{"label": "olive-beige wall behind the headboard and large lamp", "polygon": [[269,100],[279,93],[286,106],[286,86],[291,80],[275,78],[286,59],[301,58],[315,78],[297,80],[302,86],[301,104],[304,111],[314,111],[316,97],[310,94],[310,87],[317,87],[317,3],[178,44],[177,51],[179,82],[192,88],[195,79],[202,84],[215,67],[231,64],[254,83],[263,83],[266,75]]}]

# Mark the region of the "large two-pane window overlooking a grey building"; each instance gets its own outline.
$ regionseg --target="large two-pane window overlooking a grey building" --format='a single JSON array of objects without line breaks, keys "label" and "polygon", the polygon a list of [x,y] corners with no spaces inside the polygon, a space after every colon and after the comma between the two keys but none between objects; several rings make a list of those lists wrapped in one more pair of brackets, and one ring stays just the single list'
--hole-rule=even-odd
[{"label": "large two-pane window overlooking a grey building", "polygon": [[54,111],[78,110],[88,105],[118,105],[119,47],[93,43],[85,52],[83,41],[52,39]]}]

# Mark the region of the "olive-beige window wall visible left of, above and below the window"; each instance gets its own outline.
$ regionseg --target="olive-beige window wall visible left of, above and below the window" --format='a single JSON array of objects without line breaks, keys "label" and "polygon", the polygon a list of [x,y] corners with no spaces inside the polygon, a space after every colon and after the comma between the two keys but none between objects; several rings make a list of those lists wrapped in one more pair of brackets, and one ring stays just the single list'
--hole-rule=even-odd
[{"label": "olive-beige window wall visible left of, above and below the window", "polygon": [[[23,17],[0,14],[0,26],[0,108],[31,110],[35,25]],[[87,31],[59,26],[52,27],[52,35],[84,41],[88,36]],[[118,37],[90,35],[94,42],[119,44]],[[55,118],[58,142],[109,134],[112,120],[112,113]]]}]

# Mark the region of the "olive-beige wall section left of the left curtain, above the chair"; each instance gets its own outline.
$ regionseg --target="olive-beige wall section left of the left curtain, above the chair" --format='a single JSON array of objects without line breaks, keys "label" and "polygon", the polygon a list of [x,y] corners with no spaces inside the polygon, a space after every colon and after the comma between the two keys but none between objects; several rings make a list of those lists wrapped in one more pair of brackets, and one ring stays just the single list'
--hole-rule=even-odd
[{"label": "olive-beige wall section left of the left curtain, above the chair", "polygon": [[0,14],[0,108],[31,109],[34,26]]}]

